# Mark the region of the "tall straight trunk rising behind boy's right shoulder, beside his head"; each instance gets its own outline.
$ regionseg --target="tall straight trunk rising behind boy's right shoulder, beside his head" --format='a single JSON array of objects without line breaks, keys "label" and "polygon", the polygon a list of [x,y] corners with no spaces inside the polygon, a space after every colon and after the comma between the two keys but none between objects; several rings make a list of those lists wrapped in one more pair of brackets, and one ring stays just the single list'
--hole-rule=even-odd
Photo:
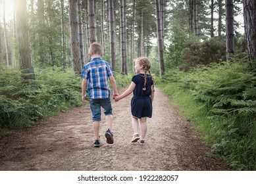
[{"label": "tall straight trunk rising behind boy's right shoulder, beside his head", "polygon": [[114,0],[109,0],[109,35],[111,43],[111,68],[115,71],[115,25],[114,25]]}]

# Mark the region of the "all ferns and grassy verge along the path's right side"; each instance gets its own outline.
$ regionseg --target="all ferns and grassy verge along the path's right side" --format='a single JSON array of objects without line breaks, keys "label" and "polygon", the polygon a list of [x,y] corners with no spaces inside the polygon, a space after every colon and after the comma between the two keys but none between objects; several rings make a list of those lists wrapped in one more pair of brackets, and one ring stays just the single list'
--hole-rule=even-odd
[{"label": "all ferns and grassy verge along the path's right side", "polygon": [[256,170],[256,75],[232,60],[166,72],[163,90],[232,170]]}]

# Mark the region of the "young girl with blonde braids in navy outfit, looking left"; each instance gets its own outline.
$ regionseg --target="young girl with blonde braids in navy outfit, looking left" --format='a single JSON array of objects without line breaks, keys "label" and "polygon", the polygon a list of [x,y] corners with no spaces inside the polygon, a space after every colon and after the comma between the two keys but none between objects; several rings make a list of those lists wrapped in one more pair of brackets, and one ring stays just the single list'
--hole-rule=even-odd
[{"label": "young girl with blonde braids in navy outfit, looking left", "polygon": [[[132,77],[130,87],[122,93],[122,95],[114,97],[115,101],[119,101],[134,92],[131,101],[132,111],[132,127],[134,129],[134,137],[132,143],[145,144],[145,135],[147,133],[147,117],[152,117],[152,102],[154,99],[154,79],[149,70],[151,64],[147,57],[139,57],[136,59],[134,66],[136,76]],[[147,72],[149,74],[147,74]],[[139,134],[139,120],[141,126],[141,136]]]}]

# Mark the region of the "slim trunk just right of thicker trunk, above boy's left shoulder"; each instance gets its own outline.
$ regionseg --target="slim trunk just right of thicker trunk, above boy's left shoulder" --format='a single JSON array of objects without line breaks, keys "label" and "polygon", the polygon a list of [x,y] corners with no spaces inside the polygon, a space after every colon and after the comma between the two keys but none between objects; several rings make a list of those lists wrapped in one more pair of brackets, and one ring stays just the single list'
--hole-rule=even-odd
[{"label": "slim trunk just right of thicker trunk, above boy's left shoulder", "polygon": [[79,43],[80,43],[80,55],[81,55],[81,64],[84,66],[84,29],[82,25],[82,4],[81,0],[78,0],[78,29],[79,29]]}]

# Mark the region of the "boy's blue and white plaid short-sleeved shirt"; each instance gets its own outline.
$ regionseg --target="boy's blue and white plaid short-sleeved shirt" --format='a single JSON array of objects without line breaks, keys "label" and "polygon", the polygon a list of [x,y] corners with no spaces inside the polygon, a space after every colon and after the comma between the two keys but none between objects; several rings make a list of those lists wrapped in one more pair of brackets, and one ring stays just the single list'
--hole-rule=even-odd
[{"label": "boy's blue and white plaid short-sleeved shirt", "polygon": [[88,93],[91,99],[107,99],[110,96],[110,76],[113,76],[111,66],[101,58],[92,58],[84,66],[81,78],[88,80]]}]

